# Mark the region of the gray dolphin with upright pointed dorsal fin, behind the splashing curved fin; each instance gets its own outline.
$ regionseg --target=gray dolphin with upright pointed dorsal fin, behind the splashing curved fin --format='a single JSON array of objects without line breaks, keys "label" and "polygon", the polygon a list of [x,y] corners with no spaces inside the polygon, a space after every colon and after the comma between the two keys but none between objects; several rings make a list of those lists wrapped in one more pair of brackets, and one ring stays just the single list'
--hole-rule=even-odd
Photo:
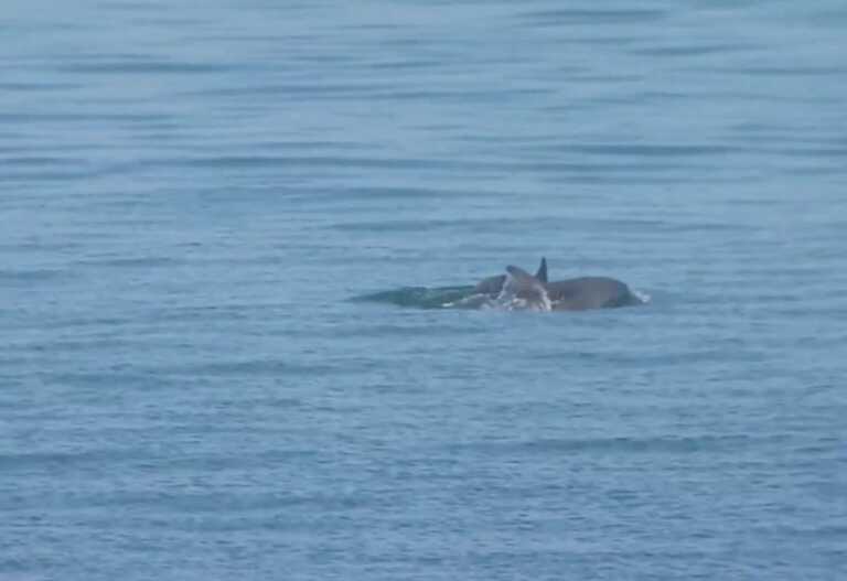
[{"label": "gray dolphin with upright pointed dorsal fin, behind the splashing curved fin", "polygon": [[[551,310],[554,311],[613,309],[617,306],[643,303],[643,301],[635,295],[624,282],[609,277],[580,277],[548,282],[547,260],[544,258],[542,258],[542,263],[538,267],[538,272],[535,277],[529,276],[516,267],[508,267],[508,269],[515,269],[523,272],[523,275],[518,273],[521,280],[524,280],[523,276],[525,275],[539,282],[546,290]],[[511,271],[510,275],[512,275]],[[500,299],[508,281],[510,275],[501,275],[498,277],[483,279],[476,287],[474,287],[474,292],[476,294],[486,294]]]}]

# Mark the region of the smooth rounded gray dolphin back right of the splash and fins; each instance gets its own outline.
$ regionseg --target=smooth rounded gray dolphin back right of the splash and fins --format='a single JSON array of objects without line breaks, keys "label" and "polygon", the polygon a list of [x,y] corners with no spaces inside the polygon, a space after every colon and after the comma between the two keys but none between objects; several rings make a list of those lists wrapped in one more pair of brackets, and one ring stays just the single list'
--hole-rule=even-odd
[{"label": "smooth rounded gray dolphin back right of the splash and fins", "polygon": [[550,282],[547,284],[547,294],[555,311],[612,309],[641,302],[626,284],[608,277],[580,277]]}]

